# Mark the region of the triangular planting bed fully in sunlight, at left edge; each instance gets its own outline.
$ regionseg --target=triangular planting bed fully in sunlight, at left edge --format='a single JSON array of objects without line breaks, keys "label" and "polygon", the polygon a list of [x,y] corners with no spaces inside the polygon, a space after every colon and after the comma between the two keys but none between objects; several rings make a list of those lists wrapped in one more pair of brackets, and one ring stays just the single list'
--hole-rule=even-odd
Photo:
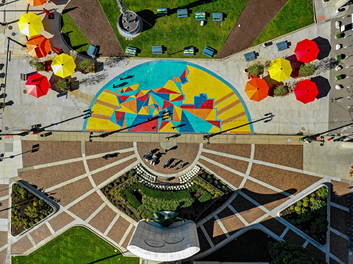
[{"label": "triangular planting bed fully in sunlight, at left edge", "polygon": [[54,211],[44,200],[18,184],[11,192],[11,234],[17,236]]}]

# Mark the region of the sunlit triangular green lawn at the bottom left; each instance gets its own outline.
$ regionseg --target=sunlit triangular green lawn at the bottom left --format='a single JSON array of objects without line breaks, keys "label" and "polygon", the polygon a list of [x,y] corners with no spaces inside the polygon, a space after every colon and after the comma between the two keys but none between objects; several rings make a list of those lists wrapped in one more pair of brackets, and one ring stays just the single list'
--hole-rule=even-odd
[{"label": "sunlit triangular green lawn at the bottom left", "polygon": [[13,256],[12,263],[138,264],[138,258],[126,258],[114,249],[85,227],[72,227],[28,256]]}]

